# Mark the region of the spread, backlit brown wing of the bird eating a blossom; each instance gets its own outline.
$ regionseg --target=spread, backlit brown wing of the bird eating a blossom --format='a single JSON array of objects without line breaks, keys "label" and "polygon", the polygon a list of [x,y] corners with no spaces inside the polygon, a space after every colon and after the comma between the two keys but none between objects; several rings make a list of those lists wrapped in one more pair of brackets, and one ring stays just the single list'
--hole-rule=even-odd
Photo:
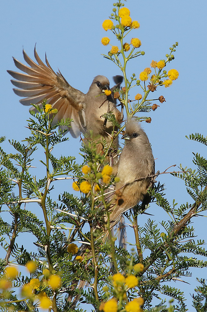
[{"label": "spread, backlit brown wing of the bird eating a blossom", "polygon": [[[14,79],[11,83],[19,89],[13,89],[14,93],[24,97],[20,100],[23,105],[39,104],[43,99],[51,104],[53,109],[57,108],[58,113],[54,121],[62,118],[73,119],[70,131],[73,137],[77,137],[80,132],[85,132],[84,100],[85,94],[73,88],[61,73],[55,73],[48,63],[45,55],[45,65],[39,58],[36,48],[34,48],[35,63],[23,50],[24,59],[27,65],[22,64],[15,58],[14,63],[18,69],[24,73],[7,71]],[[25,74],[26,73],[26,74]],[[31,107],[30,110],[34,110]]]}]

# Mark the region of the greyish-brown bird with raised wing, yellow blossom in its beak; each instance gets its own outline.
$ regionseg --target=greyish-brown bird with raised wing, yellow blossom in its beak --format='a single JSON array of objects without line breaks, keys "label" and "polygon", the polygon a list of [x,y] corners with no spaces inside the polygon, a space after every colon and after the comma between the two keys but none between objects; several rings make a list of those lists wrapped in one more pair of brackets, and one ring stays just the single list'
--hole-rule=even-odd
[{"label": "greyish-brown bird with raised wing, yellow blossom in its beak", "polygon": [[[37,105],[43,99],[47,99],[53,109],[58,109],[54,121],[60,121],[62,118],[73,120],[68,130],[74,138],[77,138],[81,132],[89,137],[92,132],[93,137],[100,135],[109,144],[113,125],[108,121],[106,122],[102,115],[113,112],[119,123],[123,119],[123,113],[116,108],[113,92],[108,96],[104,93],[105,90],[110,90],[109,80],[105,76],[96,76],[88,92],[84,94],[69,85],[60,72],[56,74],[53,71],[46,55],[45,62],[47,65],[45,65],[39,58],[36,48],[34,48],[34,56],[37,63],[32,61],[24,50],[23,56],[29,66],[22,64],[15,58],[13,60],[16,67],[26,74],[7,71],[16,79],[11,80],[11,83],[19,88],[13,89],[15,94],[24,97],[20,103]],[[114,76],[116,85],[113,90],[120,87],[122,80],[122,76]],[[30,110],[34,110],[34,107],[31,107]],[[118,147],[118,137],[114,141],[115,145]]]}]

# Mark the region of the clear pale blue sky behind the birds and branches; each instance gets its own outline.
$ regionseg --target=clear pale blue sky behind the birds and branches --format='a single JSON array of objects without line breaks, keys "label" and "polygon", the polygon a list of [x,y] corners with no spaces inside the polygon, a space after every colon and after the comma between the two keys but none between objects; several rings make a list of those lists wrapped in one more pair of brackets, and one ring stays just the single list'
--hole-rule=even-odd
[{"label": "clear pale blue sky behind the birds and branches", "polygon": [[[169,53],[169,47],[179,42],[175,59],[166,68],[179,71],[179,78],[169,88],[162,87],[153,93],[153,97],[163,95],[166,102],[156,111],[150,112],[151,124],[142,123],[152,144],[156,170],[160,172],[173,164],[193,168],[192,152],[206,154],[205,146],[185,138],[191,133],[207,135],[206,130],[206,1],[138,1],[129,0],[125,5],[131,11],[133,20],[140,22],[140,28],[130,34],[138,37],[140,56],[128,63],[127,75],[138,76],[140,71],[149,67],[152,59],[159,61]],[[23,1],[7,0],[1,3],[1,124],[0,135],[7,139],[22,140],[27,132],[26,119],[28,108],[21,105],[19,97],[12,91],[11,77],[6,70],[16,71],[12,56],[24,62],[22,48],[33,58],[34,45],[39,56],[44,60],[44,53],[54,71],[58,68],[67,81],[82,92],[88,88],[97,75],[104,75],[112,83],[112,76],[121,74],[112,62],[101,56],[108,52],[100,41],[108,36],[117,45],[112,33],[106,33],[102,22],[111,14],[113,1],[63,1],[44,0]],[[33,58],[34,59],[34,58]],[[134,99],[138,87],[130,91]],[[158,103],[159,104],[159,103]],[[8,141],[2,144],[6,152],[12,149]],[[78,155],[80,143],[72,139],[63,144],[61,154]],[[58,153],[58,151],[56,151]],[[36,174],[36,173],[35,173]],[[159,177],[165,183],[168,200],[172,202],[191,202],[186,193],[184,183],[171,175]],[[64,186],[63,186],[64,187]],[[69,185],[67,187],[70,187]],[[156,205],[149,209],[153,219],[159,222],[166,216]],[[142,219],[140,219],[142,222]],[[144,222],[144,219],[143,219]],[[195,233],[198,238],[205,239],[207,231],[205,217],[193,219]],[[206,269],[193,269],[192,278],[186,279],[191,285],[182,282],[174,283],[174,287],[185,290],[187,305],[190,311],[191,296],[196,286],[196,277],[205,277]]]}]

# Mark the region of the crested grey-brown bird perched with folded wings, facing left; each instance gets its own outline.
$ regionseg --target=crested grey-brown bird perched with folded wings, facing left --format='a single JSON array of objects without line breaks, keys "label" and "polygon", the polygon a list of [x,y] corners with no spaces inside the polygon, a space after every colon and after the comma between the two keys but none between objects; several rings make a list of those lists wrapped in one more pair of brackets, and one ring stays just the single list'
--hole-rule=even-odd
[{"label": "crested grey-brown bird perched with folded wings, facing left", "polygon": [[[144,201],[148,195],[155,164],[150,142],[140,122],[127,120],[125,134],[122,139],[126,144],[114,166],[114,174],[119,177],[115,185],[115,196],[111,196],[110,228],[119,222],[122,214],[128,209]],[[107,222],[107,217],[105,217]]]}]

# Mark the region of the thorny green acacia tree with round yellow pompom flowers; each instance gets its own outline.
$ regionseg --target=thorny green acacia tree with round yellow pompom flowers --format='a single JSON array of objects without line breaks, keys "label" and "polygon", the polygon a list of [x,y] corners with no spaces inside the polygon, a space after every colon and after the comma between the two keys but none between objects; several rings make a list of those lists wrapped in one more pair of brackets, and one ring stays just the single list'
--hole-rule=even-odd
[{"label": "thorny green acacia tree with round yellow pompom flowers", "polygon": [[[152,100],[152,92],[163,86],[168,87],[178,78],[177,70],[171,69],[168,64],[174,59],[173,52],[178,43],[170,47],[165,59],[152,61],[138,78],[135,73],[128,78],[127,62],[144,55],[139,50],[140,40],[131,38],[139,23],[132,21],[129,9],[120,0],[113,6],[111,16],[102,26],[118,41],[117,46],[111,45],[104,57],[113,61],[124,76],[125,86],[115,90],[114,97],[125,108],[127,117],[150,122],[151,118],[141,116],[142,113],[156,110],[165,101],[162,95]],[[125,42],[128,38],[131,38],[130,43]],[[108,46],[114,39],[104,37],[101,41]],[[131,88],[140,90],[135,99],[128,96]],[[159,105],[152,104],[152,101],[157,101]],[[105,225],[109,238],[106,241],[103,239],[103,216],[109,215],[110,207],[106,192],[113,194],[113,185],[118,181],[118,177],[112,175],[112,168],[104,164],[106,159],[113,157],[113,140],[125,126],[117,123],[113,112],[104,114],[103,118],[113,123],[111,144],[107,146],[99,138],[104,146],[103,154],[99,155],[93,140],[88,145],[83,142],[83,161],[77,164],[75,157],[56,158],[52,151],[56,144],[67,140],[64,132],[57,129],[58,126],[70,126],[71,120],[53,124],[56,110],[46,101],[42,104],[42,109],[35,106],[37,114],[30,112],[28,128],[31,135],[23,140],[24,144],[9,141],[14,154],[0,150],[1,212],[7,212],[12,217],[10,223],[0,219],[4,251],[0,262],[1,310],[83,311],[78,307],[81,302],[93,305],[94,311],[104,312],[186,311],[182,290],[168,284],[171,280],[182,280],[183,276],[190,275],[191,267],[207,265],[206,261],[196,258],[197,255],[207,256],[207,253],[203,248],[204,241],[195,242],[194,229],[190,225],[192,218],[206,209],[207,160],[200,154],[194,154],[194,170],[181,166],[178,172],[172,172],[175,179],[180,178],[186,184],[187,193],[192,198],[190,204],[183,203],[177,207],[173,200],[171,205],[164,197],[163,186],[159,182],[149,189],[152,201],[170,217],[170,220],[161,222],[163,232],[156,220],[150,218],[144,226],[140,225],[139,215],[146,212],[149,205],[142,209],[137,205],[125,213],[136,242],[134,249],[130,249],[129,242],[126,250],[116,244],[116,234],[110,231],[109,222]],[[116,127],[118,132],[114,130]],[[191,134],[189,138],[207,145],[207,138],[200,134]],[[1,142],[4,140],[1,138]],[[37,179],[32,175],[31,167],[35,151],[40,146],[44,151],[40,162],[45,171]],[[157,172],[152,178],[158,180],[159,174],[162,173]],[[74,192],[68,193],[66,185],[66,191],[58,195],[55,192],[56,183],[68,179],[73,181]],[[36,216],[35,205],[42,209],[43,220]],[[96,231],[95,224],[99,225]],[[30,232],[35,237],[36,251],[16,244],[16,237],[21,237],[24,232]],[[85,246],[82,254],[78,251],[81,243]],[[21,273],[22,268],[27,270],[26,275]],[[198,311],[206,311],[205,280],[200,280],[200,283],[197,295],[193,295],[193,306]],[[171,301],[167,307],[159,294],[176,299],[176,303],[172,305]],[[153,298],[159,302],[156,306],[153,306]]]}]

